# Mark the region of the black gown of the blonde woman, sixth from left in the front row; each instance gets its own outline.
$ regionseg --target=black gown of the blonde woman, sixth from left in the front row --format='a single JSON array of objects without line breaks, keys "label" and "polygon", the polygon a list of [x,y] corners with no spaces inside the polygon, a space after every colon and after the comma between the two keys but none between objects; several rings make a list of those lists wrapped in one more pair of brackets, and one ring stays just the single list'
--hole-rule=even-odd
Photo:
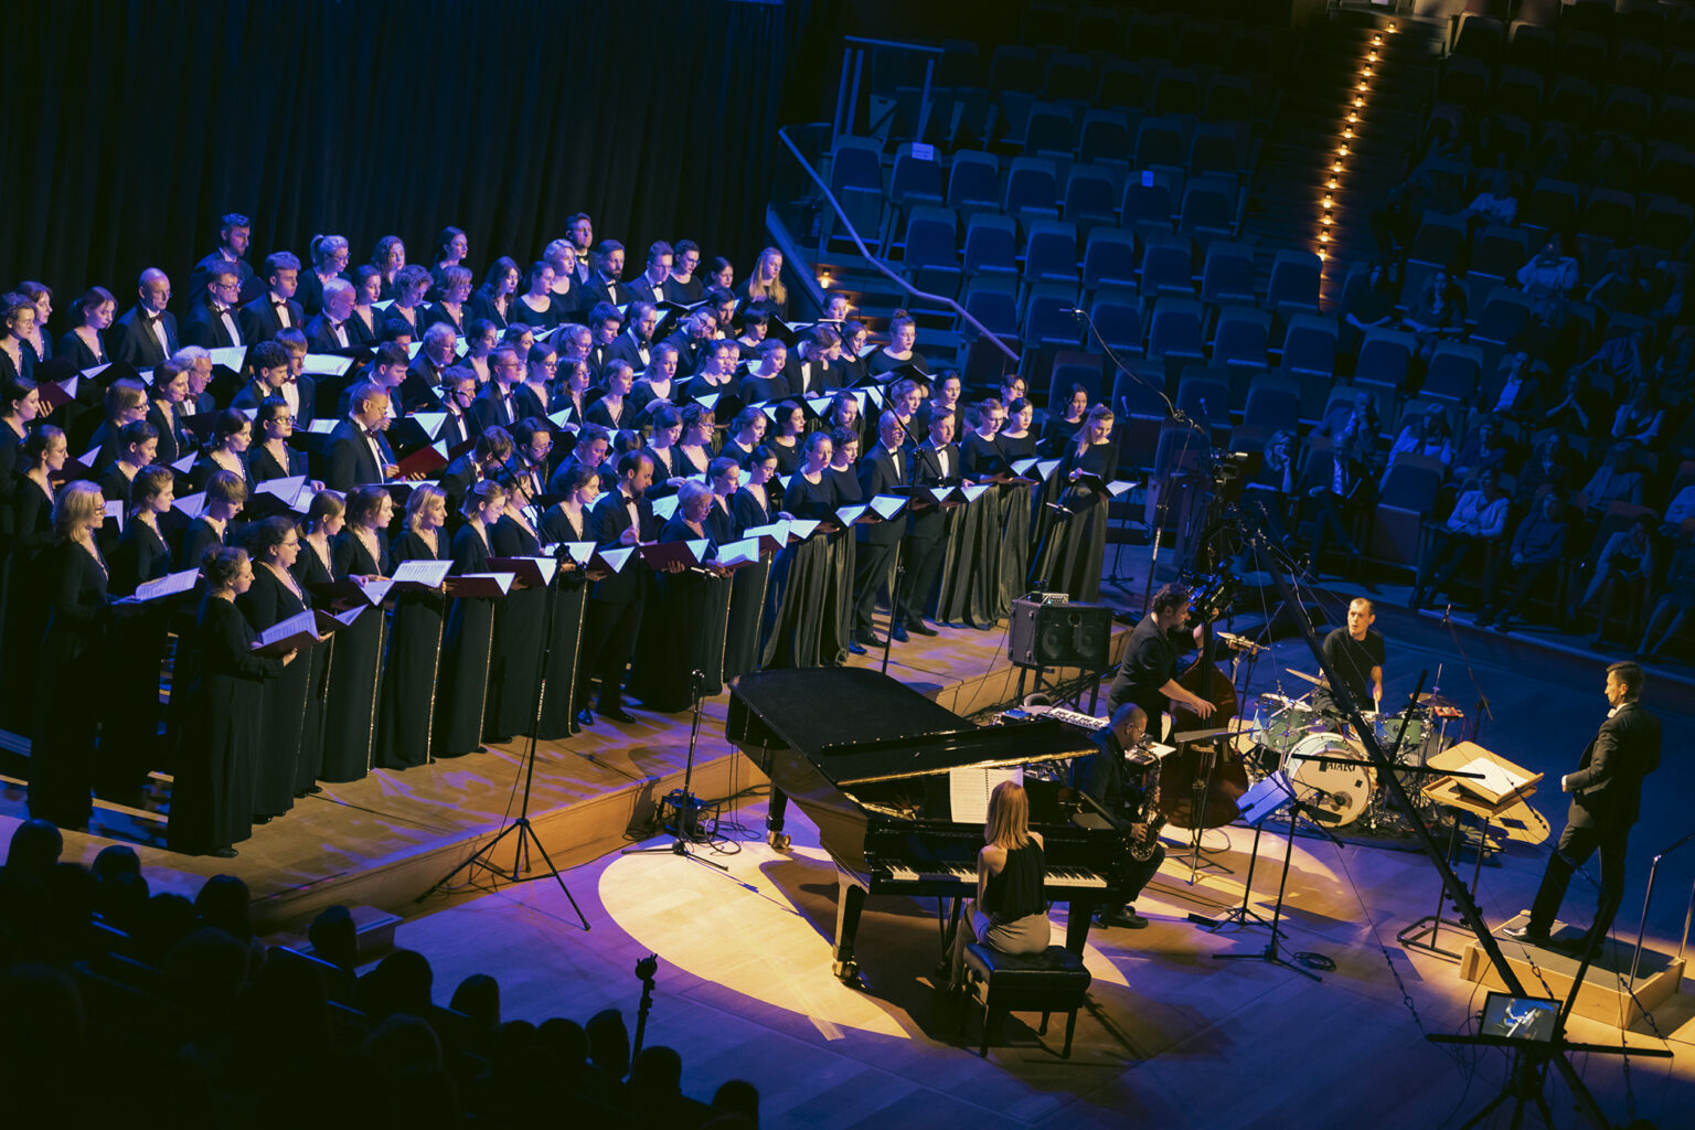
[{"label": "black gown of the blonde woman, sixth from left in the front row", "polygon": [[[436,552],[414,530],[388,547],[388,562],[449,561],[447,532],[436,532]],[[370,613],[366,613],[370,615]],[[376,708],[376,764],[381,769],[410,769],[432,761],[431,728],[436,723],[436,681],[441,678],[441,645],[447,634],[446,593],[398,593],[388,623],[388,657],[383,662],[383,695]]]}]

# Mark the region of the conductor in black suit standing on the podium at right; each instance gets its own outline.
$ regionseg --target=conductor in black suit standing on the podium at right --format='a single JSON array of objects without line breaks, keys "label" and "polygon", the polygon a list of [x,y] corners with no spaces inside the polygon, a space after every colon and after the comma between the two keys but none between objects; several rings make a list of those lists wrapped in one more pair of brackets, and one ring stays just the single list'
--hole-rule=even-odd
[{"label": "conductor in black suit standing on the podium at right", "polygon": [[1559,903],[1571,872],[1600,850],[1600,906],[1580,947],[1607,937],[1624,898],[1624,845],[1641,811],[1642,778],[1659,767],[1659,718],[1642,710],[1642,669],[1634,662],[1607,667],[1607,701],[1612,710],[1583,751],[1576,773],[1559,778],[1559,789],[1571,793],[1566,830],[1548,859],[1542,886],[1531,903],[1531,918],[1509,927],[1503,935],[1548,945]]}]

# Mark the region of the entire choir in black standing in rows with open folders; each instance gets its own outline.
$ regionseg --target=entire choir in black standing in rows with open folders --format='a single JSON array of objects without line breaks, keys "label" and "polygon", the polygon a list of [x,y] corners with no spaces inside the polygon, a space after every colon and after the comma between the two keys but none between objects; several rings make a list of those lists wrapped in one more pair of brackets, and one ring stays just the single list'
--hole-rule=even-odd
[{"label": "entire choir in black standing in rows with open folders", "polygon": [[390,237],[347,273],[336,235],[203,263],[188,344],[156,269],[124,319],[78,300],[58,357],[15,334],[0,723],[34,815],[166,771],[170,844],[227,857],[320,783],[842,664],[880,607],[905,642],[1098,593],[1086,393],[1036,429],[1017,378],[932,373],[905,312],[880,344],[841,295],[790,324],[771,249],[734,288],[654,244],[625,286],[615,241],[554,241],[473,288],[454,232],[434,269]]}]

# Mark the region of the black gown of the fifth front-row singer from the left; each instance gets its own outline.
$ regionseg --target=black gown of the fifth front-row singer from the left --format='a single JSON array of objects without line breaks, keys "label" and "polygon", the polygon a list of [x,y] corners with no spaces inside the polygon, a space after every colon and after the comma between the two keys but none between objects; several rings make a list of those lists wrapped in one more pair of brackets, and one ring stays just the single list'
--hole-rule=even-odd
[{"label": "black gown of the fifth front-row singer from the left", "polygon": [[[331,556],[336,579],[388,576],[388,537],[376,534],[376,559],[351,529],[336,535]],[[329,671],[329,708],[324,717],[324,764],[319,779],[358,781],[371,771],[376,752],[376,700],[383,683],[383,610],[366,608],[336,632],[336,657]]]}]

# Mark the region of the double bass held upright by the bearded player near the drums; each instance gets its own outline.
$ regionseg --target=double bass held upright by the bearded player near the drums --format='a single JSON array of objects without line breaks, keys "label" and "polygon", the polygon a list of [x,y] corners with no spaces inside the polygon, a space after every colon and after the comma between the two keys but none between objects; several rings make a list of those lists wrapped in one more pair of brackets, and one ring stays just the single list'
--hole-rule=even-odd
[{"label": "double bass held upright by the bearded player near the drums", "polygon": [[[1175,734],[1202,727],[1231,728],[1236,720],[1236,684],[1212,661],[1214,603],[1205,591],[1192,601],[1202,617],[1200,654],[1176,679],[1178,686],[1212,703],[1212,717],[1202,722],[1195,712],[1173,703]],[[1222,828],[1236,820],[1236,801],[1246,791],[1248,767],[1232,744],[1188,742],[1161,766],[1159,811],[1178,828]]]}]

